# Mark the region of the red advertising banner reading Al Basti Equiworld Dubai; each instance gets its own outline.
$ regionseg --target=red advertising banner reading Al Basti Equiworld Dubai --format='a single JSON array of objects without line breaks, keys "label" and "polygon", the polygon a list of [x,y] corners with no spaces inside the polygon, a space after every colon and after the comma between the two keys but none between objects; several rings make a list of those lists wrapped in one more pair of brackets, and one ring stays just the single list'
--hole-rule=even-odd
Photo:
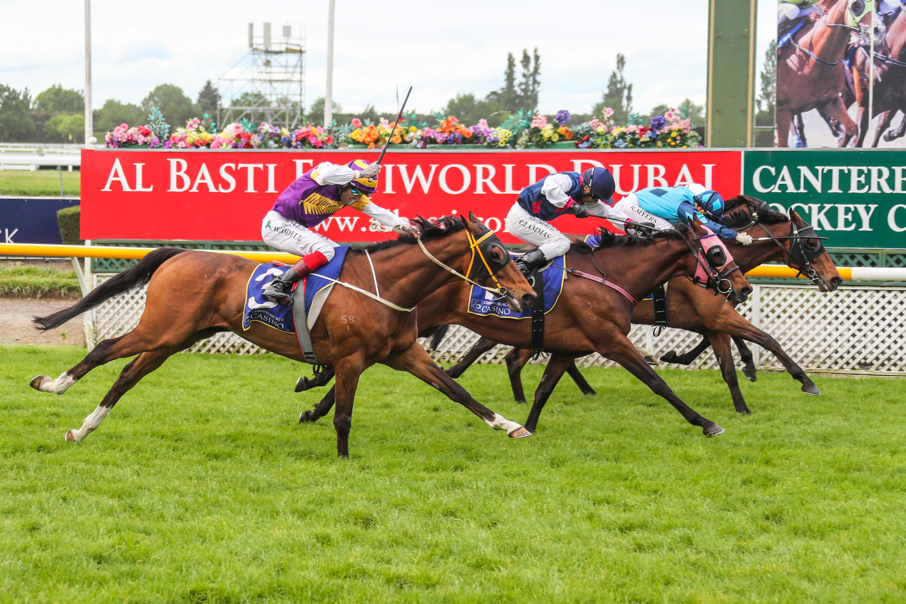
[{"label": "red advertising banner reading Al Basti Equiworld Dubai", "polygon": [[[260,241],[261,220],[295,178],[322,161],[374,160],[372,150],[82,151],[82,238]],[[374,203],[399,216],[475,212],[505,243],[506,214],[523,187],[548,173],[609,168],[616,199],[644,187],[699,183],[724,197],[741,191],[741,151],[397,150],[384,158]],[[604,221],[557,218],[564,233],[590,233]],[[336,242],[391,236],[345,208],[316,230]]]}]

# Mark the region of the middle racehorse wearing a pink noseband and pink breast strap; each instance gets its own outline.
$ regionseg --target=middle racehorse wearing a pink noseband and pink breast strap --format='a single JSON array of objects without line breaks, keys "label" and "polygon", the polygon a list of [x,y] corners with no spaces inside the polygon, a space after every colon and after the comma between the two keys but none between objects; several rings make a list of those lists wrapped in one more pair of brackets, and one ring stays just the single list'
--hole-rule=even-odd
[{"label": "middle racehorse wearing a pink noseband and pink breast strap", "polygon": [[[655,394],[666,398],[690,424],[701,427],[702,434],[721,434],[724,428],[689,408],[626,337],[636,301],[673,277],[695,274],[698,266],[708,265],[709,287],[726,292],[738,302],[746,300],[752,292],[746,278],[718,246],[711,245],[706,254],[701,244],[705,235],[706,231],[695,219],[688,227],[680,225],[677,230],[660,231],[653,240],[602,231],[602,244],[594,248],[584,242],[573,242],[564,259],[569,277],[558,302],[545,314],[545,350],[553,353],[545,378],[550,379],[548,372],[553,375],[554,369],[562,374],[574,359],[598,352],[618,362]],[[419,304],[420,334],[429,335],[439,325],[456,323],[492,340],[531,348],[531,321],[470,314],[467,312],[470,292],[471,287],[453,283],[426,297]],[[559,379],[559,374],[556,377]],[[323,379],[330,379],[330,373],[318,378],[319,382]],[[333,390],[313,410],[304,411],[299,421],[315,421],[332,405]]]}]

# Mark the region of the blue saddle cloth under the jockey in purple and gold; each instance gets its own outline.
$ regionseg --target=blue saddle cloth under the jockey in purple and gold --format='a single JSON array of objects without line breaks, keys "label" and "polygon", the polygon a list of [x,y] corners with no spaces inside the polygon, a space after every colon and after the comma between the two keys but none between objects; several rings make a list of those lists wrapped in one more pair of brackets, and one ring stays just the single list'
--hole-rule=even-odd
[{"label": "blue saddle cloth under the jockey in purple and gold", "polygon": [[[314,294],[323,290],[328,285],[333,285],[332,281],[321,278],[324,275],[332,279],[337,279],[342,270],[343,260],[349,251],[349,245],[335,248],[333,260],[324,264],[314,273],[305,277],[305,316],[312,309]],[[255,272],[248,279],[246,287],[246,307],[242,316],[242,329],[247,330],[252,326],[252,321],[264,323],[275,330],[285,331],[286,333],[295,333],[295,321],[293,320],[293,306],[291,304],[278,304],[265,300],[264,291],[274,279],[283,274],[285,266],[278,266],[274,263],[258,264]],[[302,285],[300,285],[302,287]]]}]

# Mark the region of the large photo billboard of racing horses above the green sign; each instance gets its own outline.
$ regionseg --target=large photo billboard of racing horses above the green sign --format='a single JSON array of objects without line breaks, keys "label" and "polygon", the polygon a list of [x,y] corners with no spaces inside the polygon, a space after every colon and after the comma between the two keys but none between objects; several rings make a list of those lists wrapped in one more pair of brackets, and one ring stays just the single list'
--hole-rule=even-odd
[{"label": "large photo billboard of racing horses above the green sign", "polygon": [[901,2],[777,6],[776,147],[906,147]]}]

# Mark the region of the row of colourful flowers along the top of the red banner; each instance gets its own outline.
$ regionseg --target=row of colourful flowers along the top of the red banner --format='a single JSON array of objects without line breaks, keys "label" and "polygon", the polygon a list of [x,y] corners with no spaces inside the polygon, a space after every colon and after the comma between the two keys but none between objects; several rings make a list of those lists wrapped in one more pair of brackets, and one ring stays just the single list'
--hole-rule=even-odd
[{"label": "row of colourful flowers along the top of the red banner", "polygon": [[[648,125],[637,113],[632,113],[625,126],[613,121],[614,111],[604,108],[600,117],[581,124],[567,125],[572,116],[559,110],[550,119],[543,113],[516,111],[499,126],[478,120],[466,126],[456,116],[434,113],[434,124],[419,122],[415,113],[405,114],[400,122],[385,119],[353,118],[347,124],[332,128],[307,124],[297,129],[278,128],[248,120],[227,124],[217,131],[209,115],[188,120],[185,128],[163,139],[154,128],[161,129],[162,117],[155,116],[154,128],[122,124],[107,133],[108,147],[144,147],[151,149],[338,149],[366,147],[380,149],[390,139],[391,145],[406,145],[425,149],[437,145],[462,147],[493,147],[544,149],[564,143],[577,149],[691,149],[700,147],[701,137],[689,119],[685,108],[670,108],[664,115],[651,117]],[[166,126],[166,124],[163,124]],[[169,126],[167,126],[169,130]],[[161,129],[161,131],[165,131]]]}]

